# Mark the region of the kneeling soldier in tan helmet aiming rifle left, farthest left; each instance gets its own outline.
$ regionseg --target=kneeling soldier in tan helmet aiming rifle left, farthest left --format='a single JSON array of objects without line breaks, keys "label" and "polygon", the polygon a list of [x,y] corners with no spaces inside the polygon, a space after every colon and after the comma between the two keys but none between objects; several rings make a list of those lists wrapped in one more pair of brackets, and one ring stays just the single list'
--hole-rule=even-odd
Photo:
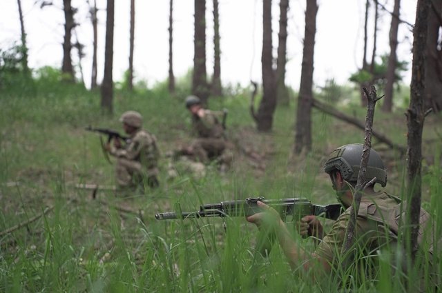
[{"label": "kneeling soldier in tan helmet aiming rifle left, farthest left", "polygon": [[119,119],[124,132],[129,135],[126,144],[118,138],[108,143],[106,150],[117,158],[115,174],[119,188],[157,188],[159,181],[157,161],[160,152],[155,135],[142,129],[142,116],[139,112],[127,111]]}]

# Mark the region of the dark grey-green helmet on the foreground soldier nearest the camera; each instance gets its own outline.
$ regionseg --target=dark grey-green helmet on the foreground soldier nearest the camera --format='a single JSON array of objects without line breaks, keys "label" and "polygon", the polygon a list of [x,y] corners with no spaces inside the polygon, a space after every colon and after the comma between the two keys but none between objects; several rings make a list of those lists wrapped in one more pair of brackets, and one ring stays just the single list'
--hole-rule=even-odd
[{"label": "dark grey-green helmet on the foreground soldier nearest the camera", "polygon": [[[362,152],[363,145],[361,143],[343,145],[330,154],[329,159],[325,162],[324,171],[330,174],[332,171],[338,170],[343,179],[356,182],[358,181]],[[376,177],[376,183],[380,183],[383,187],[387,185],[387,171],[381,156],[371,149],[365,178],[370,181],[374,177]]]}]

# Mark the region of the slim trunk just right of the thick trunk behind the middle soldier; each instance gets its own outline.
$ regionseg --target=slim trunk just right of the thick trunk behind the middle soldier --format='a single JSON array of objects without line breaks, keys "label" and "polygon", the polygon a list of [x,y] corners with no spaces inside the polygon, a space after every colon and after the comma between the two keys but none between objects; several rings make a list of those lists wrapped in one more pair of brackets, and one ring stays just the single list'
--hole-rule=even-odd
[{"label": "slim trunk just right of the thick trunk behind the middle soldier", "polygon": [[218,0],[213,0],[213,79],[212,94],[214,97],[222,96],[221,86],[221,50],[220,50],[220,14]]}]

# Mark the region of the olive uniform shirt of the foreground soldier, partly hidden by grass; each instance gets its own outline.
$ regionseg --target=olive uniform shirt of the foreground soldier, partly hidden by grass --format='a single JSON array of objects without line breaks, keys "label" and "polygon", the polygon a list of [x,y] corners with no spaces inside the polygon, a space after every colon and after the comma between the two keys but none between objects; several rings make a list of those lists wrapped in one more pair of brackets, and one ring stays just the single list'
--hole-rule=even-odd
[{"label": "olive uniform shirt of the foreground soldier, partly hidden by grass", "polygon": [[[340,256],[342,256],[342,247],[349,222],[349,215],[350,208],[339,216],[332,226],[332,230],[323,238],[323,241],[320,242],[318,247],[316,247],[316,254],[320,256],[321,259],[327,260],[332,267],[335,268],[338,268],[339,259],[342,259]],[[361,199],[354,235],[357,245],[356,250],[362,252],[363,255],[352,255],[347,260],[349,261],[347,263],[363,265],[362,267],[366,270],[376,265],[376,263],[373,262],[376,261],[376,258],[369,256],[376,256],[378,250],[396,253],[401,252],[402,243],[398,243],[398,234],[400,234],[400,221],[404,219],[405,216],[401,214],[400,199],[385,192],[365,194]],[[421,210],[418,245],[425,243],[425,245],[428,245],[427,252],[432,254],[432,223],[428,221],[429,219],[429,214],[427,214],[425,210]],[[425,239],[423,239],[424,235]],[[361,248],[362,250],[360,250]],[[417,252],[418,247],[414,247],[414,251]],[[406,270],[405,263],[395,263],[395,261],[401,261],[401,259],[392,257],[391,262],[394,263],[392,267],[401,267],[402,270]],[[365,271],[366,274],[374,274],[374,272],[376,272],[376,270]]]}]

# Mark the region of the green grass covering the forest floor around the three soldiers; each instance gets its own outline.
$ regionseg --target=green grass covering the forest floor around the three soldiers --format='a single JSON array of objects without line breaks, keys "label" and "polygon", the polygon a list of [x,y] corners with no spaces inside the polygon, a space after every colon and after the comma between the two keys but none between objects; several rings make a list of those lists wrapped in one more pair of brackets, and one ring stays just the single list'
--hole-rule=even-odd
[{"label": "green grass covering the forest floor around the three soldiers", "polygon": [[[100,191],[104,204],[92,199],[90,191],[73,188],[74,183],[114,183],[113,165],[102,157],[96,134],[84,128],[93,125],[122,132],[119,114],[137,110],[164,154],[188,139],[189,114],[182,105],[186,88],[175,97],[169,96],[164,84],[133,93],[117,90],[115,114],[109,117],[99,109],[99,93],[78,85],[59,86],[51,74],[32,85],[36,89],[32,94],[13,88],[0,97],[0,231],[40,214],[48,205],[54,207],[34,223],[1,236],[1,292],[342,292],[343,287],[355,292],[414,292],[405,287],[407,280],[416,283],[422,272],[430,292],[427,255],[416,266],[419,270],[407,274],[394,270],[397,259],[378,252],[375,280],[366,279],[357,266],[338,267],[331,276],[314,280],[300,269],[291,270],[278,245],[273,245],[268,257],[261,256],[256,251],[258,230],[244,219],[155,221],[156,212],[195,210],[201,203],[249,196],[296,196],[332,203],[335,196],[322,172],[323,162],[333,148],[362,142],[362,131],[314,110],[314,151],[304,159],[291,156],[296,113],[292,103],[276,110],[274,130],[263,138],[273,145],[265,172],[257,173],[243,158],[227,174],[208,168],[202,178],[180,174],[167,181],[163,157],[159,190],[128,198]],[[210,101],[211,108],[229,109],[232,133],[253,130],[248,106],[247,91]],[[342,110],[365,117],[363,109]],[[376,112],[375,125],[405,145],[402,116]],[[438,236],[442,227],[441,168],[436,163],[440,150],[439,146],[435,152],[427,151],[435,154],[434,163],[423,169],[423,206],[434,215]],[[391,151],[383,154],[391,156],[387,158],[389,187],[401,195],[405,160]],[[19,185],[7,187],[12,181]],[[134,213],[122,212],[122,207]],[[305,249],[314,248],[295,232],[294,237]],[[439,281],[441,266],[441,261],[435,261]]]}]

